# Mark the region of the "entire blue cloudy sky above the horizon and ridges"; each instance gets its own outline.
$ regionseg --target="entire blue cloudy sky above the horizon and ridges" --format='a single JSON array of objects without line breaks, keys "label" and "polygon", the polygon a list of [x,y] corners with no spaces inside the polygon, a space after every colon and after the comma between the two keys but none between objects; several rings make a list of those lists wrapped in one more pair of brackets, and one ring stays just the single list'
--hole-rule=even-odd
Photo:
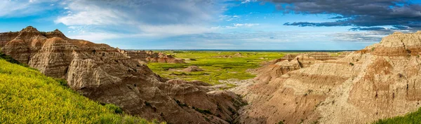
[{"label": "entire blue cloudy sky above the horizon and ridges", "polygon": [[0,32],[124,49],[359,50],[421,30],[421,0],[1,0]]}]

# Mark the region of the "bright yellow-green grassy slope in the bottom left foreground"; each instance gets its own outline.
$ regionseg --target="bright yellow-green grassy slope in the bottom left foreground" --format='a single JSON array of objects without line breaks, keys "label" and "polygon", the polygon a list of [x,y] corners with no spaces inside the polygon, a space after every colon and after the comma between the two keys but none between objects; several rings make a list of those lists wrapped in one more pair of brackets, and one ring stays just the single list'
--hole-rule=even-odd
[{"label": "bright yellow-green grassy slope in the bottom left foreground", "polygon": [[[8,61],[10,62],[8,62]],[[0,56],[0,123],[150,123]],[[16,62],[14,62],[16,63]]]}]

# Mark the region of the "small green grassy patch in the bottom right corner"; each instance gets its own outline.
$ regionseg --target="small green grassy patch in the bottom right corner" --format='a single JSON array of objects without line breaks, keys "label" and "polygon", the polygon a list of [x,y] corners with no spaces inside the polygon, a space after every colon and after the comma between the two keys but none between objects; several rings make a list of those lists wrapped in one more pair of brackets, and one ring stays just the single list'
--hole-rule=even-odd
[{"label": "small green grassy patch in the bottom right corner", "polygon": [[418,111],[408,113],[405,116],[397,116],[394,118],[387,118],[377,120],[375,124],[395,124],[395,123],[421,123],[421,108]]}]

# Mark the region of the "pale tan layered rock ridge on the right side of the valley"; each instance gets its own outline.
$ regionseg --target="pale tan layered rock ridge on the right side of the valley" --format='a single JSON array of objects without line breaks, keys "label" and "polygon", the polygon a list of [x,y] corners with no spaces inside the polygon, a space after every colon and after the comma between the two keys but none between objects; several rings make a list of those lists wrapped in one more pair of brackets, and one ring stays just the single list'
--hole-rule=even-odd
[{"label": "pale tan layered rock ridge on the right side of the valley", "polygon": [[287,73],[262,70],[259,77],[272,74],[269,81],[234,90],[249,102],[237,122],[370,123],[416,111],[420,52],[421,32],[394,33],[338,60]]}]

